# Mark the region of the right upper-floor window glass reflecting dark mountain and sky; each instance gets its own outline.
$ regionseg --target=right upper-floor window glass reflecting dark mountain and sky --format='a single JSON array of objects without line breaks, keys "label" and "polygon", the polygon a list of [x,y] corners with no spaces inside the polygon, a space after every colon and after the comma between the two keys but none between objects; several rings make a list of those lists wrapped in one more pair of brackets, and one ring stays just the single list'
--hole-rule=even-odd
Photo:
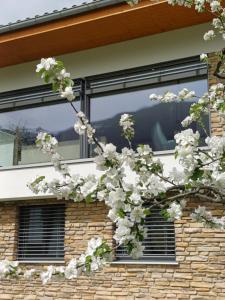
[{"label": "right upper-floor window glass reflecting dark mountain and sky", "polygon": [[[121,137],[118,126],[120,115],[129,113],[135,120],[135,138],[133,147],[138,144],[149,144],[154,151],[174,149],[174,135],[182,130],[181,121],[188,115],[190,105],[194,100],[182,103],[159,103],[150,101],[152,93],[163,94],[167,91],[178,93],[184,87],[194,90],[197,95],[207,91],[207,80],[201,79],[178,84],[168,84],[154,88],[120,92],[113,95],[93,97],[91,99],[91,121],[96,128],[100,141],[111,142],[121,150],[127,146]],[[209,131],[209,118],[204,119]],[[193,130],[199,130],[201,143],[204,144],[205,133],[197,124]]]}]

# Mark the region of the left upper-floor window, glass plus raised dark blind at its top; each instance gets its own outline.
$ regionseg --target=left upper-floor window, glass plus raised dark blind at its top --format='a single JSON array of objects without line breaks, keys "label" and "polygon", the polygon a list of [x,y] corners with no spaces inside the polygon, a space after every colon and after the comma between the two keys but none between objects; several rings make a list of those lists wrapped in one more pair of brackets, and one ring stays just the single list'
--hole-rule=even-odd
[{"label": "left upper-floor window, glass plus raised dark blind at its top", "polygon": [[[76,83],[74,105],[80,110],[80,83]],[[79,136],[74,132],[76,115],[70,104],[50,86],[0,94],[0,167],[47,162],[35,146],[40,131],[59,141],[59,153],[66,159],[80,158]]]}]

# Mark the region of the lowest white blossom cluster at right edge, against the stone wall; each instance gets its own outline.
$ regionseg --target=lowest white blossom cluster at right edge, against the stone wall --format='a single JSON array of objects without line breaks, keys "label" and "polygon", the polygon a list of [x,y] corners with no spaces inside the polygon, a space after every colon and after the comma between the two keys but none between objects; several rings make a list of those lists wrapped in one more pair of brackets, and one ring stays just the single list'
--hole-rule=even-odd
[{"label": "lowest white blossom cluster at right edge, against the stone wall", "polygon": [[225,227],[225,217],[217,218],[213,217],[210,211],[207,211],[204,206],[199,206],[191,214],[191,218],[194,221],[201,222],[208,227],[224,229]]}]

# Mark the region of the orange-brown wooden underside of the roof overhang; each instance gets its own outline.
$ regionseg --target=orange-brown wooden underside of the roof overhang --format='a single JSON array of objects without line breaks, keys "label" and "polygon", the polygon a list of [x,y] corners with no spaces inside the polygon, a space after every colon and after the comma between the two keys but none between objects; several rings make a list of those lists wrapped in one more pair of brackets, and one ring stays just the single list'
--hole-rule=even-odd
[{"label": "orange-brown wooden underside of the roof overhang", "polygon": [[166,1],[142,0],[133,7],[125,3],[104,7],[1,34],[0,67],[197,25],[211,19],[208,13],[172,7]]}]

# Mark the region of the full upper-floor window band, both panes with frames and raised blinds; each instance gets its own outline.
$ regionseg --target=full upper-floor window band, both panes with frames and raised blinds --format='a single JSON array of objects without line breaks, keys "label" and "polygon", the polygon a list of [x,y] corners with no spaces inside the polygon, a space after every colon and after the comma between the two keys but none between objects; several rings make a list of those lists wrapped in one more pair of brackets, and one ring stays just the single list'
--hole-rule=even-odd
[{"label": "full upper-floor window band, both panes with frames and raised blinds", "polygon": [[[207,91],[207,66],[196,57],[77,80],[75,106],[91,120],[99,140],[114,143],[118,150],[126,146],[120,115],[130,113],[136,124],[133,147],[149,144],[154,151],[166,151],[174,149],[174,135],[193,100],[163,104],[150,101],[149,95],[177,93],[184,87],[198,95]],[[87,138],[74,132],[75,121],[70,104],[50,86],[0,94],[0,167],[49,161],[35,147],[39,131],[59,140],[59,153],[66,160],[93,156]],[[203,122],[209,132],[208,116]],[[192,128],[200,131],[204,145],[205,132],[197,124]]]}]

